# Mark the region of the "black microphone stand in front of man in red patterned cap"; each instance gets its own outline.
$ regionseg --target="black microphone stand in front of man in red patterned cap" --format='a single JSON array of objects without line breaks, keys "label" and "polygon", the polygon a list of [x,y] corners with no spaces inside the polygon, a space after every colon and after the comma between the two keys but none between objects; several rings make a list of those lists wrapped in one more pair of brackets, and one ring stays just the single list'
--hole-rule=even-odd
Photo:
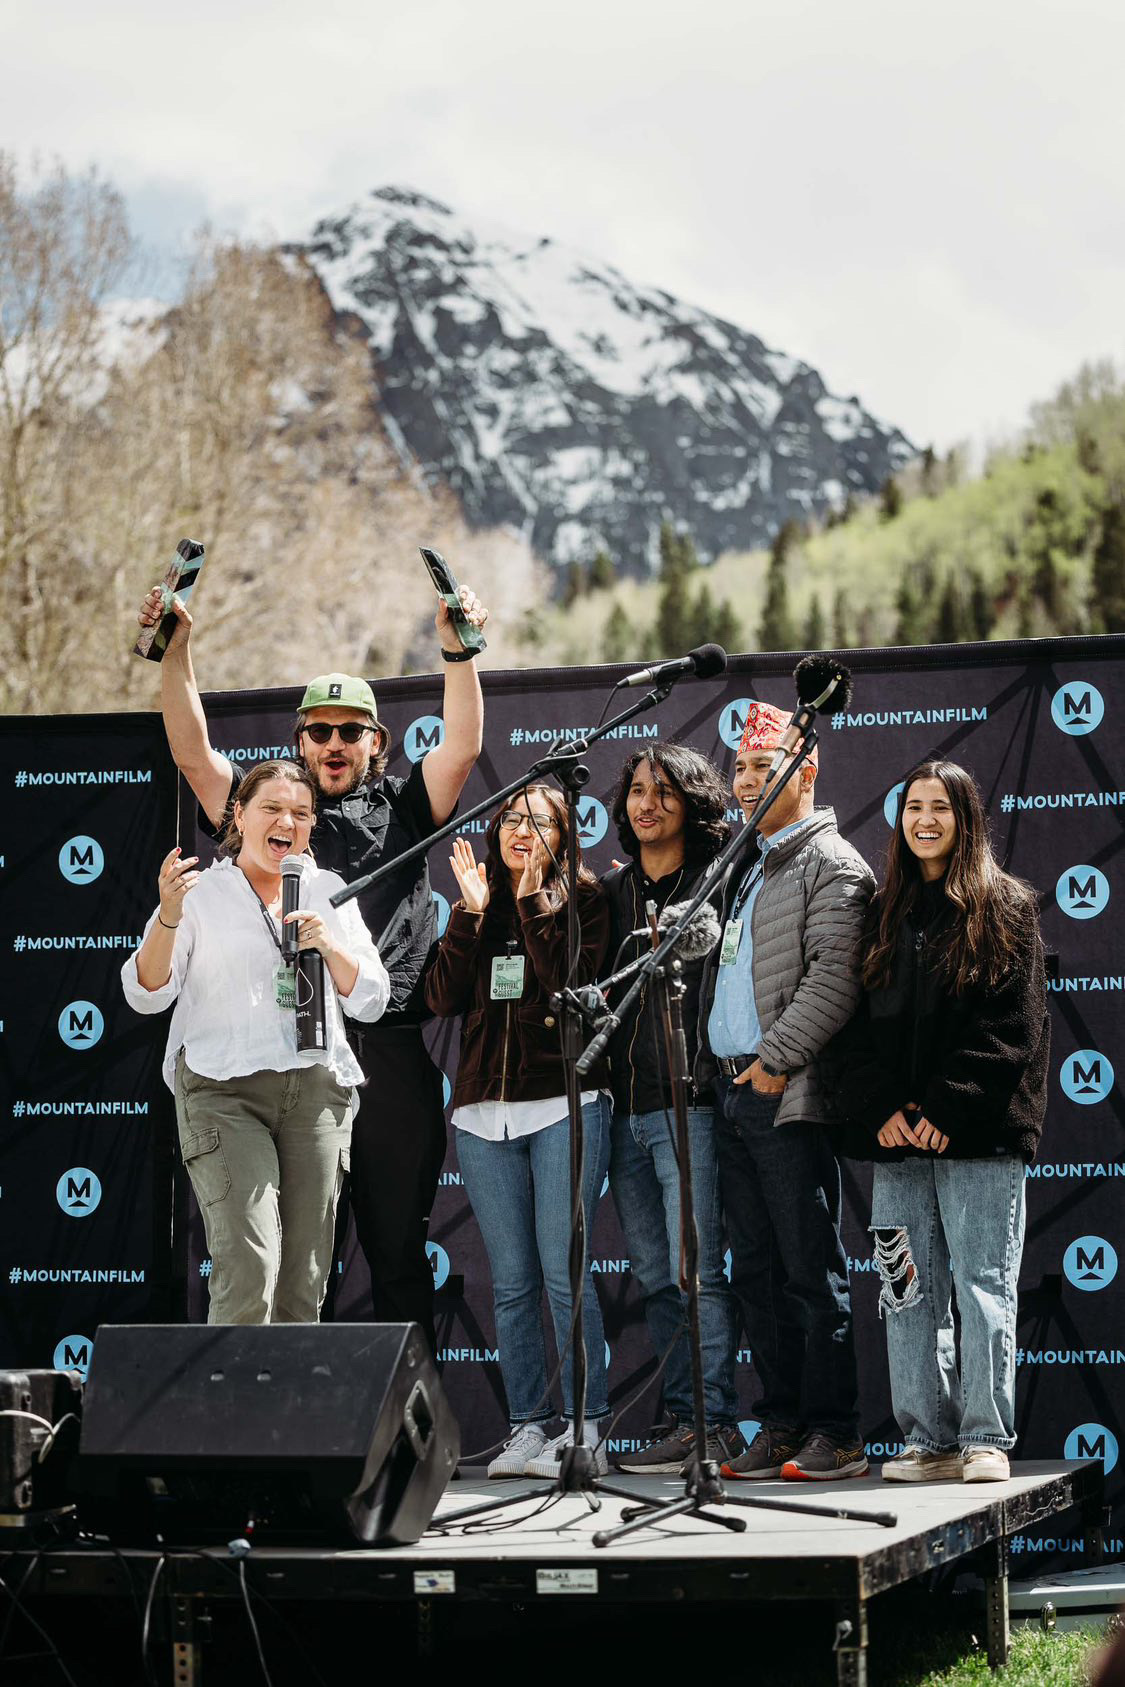
[{"label": "black microphone stand in front of man in red patterned cap", "polygon": [[[708,894],[713,891],[715,884],[722,879],[729,867],[732,867],[740,857],[749,854],[751,838],[761,818],[772,808],[778,796],[793,778],[793,774],[801,768],[813,749],[816,747],[816,732],[811,727],[811,717],[803,730],[801,751],[791,761],[786,774],[776,778],[767,784],[766,791],[759,798],[754,811],[747,817],[746,827],[737,833],[725,850],[715,857],[710,869],[703,876],[695,896],[688,901],[686,908],[681,911],[680,918],[668,930],[668,935],[661,943],[653,948],[651,955],[646,955],[636,978],[632,980],[629,990],[622,997],[619,1007],[626,1009],[636,995],[644,987],[646,978],[653,977],[659,992],[661,1007],[661,1026],[665,1038],[668,1076],[671,1083],[671,1100],[673,1100],[673,1117],[676,1127],[676,1162],[680,1169],[680,1287],[686,1294],[688,1301],[688,1348],[692,1355],[692,1419],[693,1419],[693,1439],[692,1439],[692,1456],[686,1461],[685,1486],[683,1495],[678,1500],[644,1500],[641,1505],[629,1505],[622,1510],[622,1522],[614,1528],[599,1530],[594,1535],[595,1547],[612,1545],[624,1535],[632,1533],[638,1528],[648,1528],[653,1523],[661,1523],[670,1517],[698,1517],[708,1523],[719,1523],[724,1528],[730,1528],[740,1533],[746,1528],[746,1520],[740,1517],[722,1517],[719,1512],[707,1510],[708,1505],[737,1505],[747,1510],[769,1510],[769,1512],[801,1512],[810,1517],[837,1517],[848,1518],[852,1522],[862,1523],[880,1523],[885,1528],[894,1528],[897,1523],[897,1515],[894,1512],[853,1512],[850,1506],[840,1505],[806,1505],[799,1500],[769,1500],[762,1496],[749,1495],[730,1495],[722,1483],[719,1464],[707,1458],[707,1412],[703,1407],[703,1346],[700,1336],[700,1306],[698,1306],[698,1230],[695,1226],[695,1199],[692,1189],[692,1140],[688,1132],[688,1102],[686,1091],[690,1083],[688,1073],[688,1048],[686,1038],[683,1034],[683,980],[680,977],[680,962],[673,958],[673,950],[680,941],[685,926],[692,919],[692,914],[707,901]],[[668,968],[665,962],[670,962],[673,977],[668,977]],[[606,1046],[614,1029],[619,1024],[621,1014],[606,1016],[607,1022],[602,1026],[599,1034],[594,1038],[590,1046],[585,1049],[577,1063],[577,1071],[584,1073],[589,1066],[600,1056],[600,1049]],[[607,1490],[612,1491],[612,1490]],[[631,1496],[632,1498],[632,1496]]]}]

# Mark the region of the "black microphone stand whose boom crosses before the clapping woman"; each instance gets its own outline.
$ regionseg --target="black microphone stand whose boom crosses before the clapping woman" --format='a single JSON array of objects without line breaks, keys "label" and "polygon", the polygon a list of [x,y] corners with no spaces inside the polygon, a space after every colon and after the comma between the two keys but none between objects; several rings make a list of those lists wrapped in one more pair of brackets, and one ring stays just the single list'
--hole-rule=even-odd
[{"label": "black microphone stand whose boom crosses before the clapping woman", "polygon": [[[595,727],[584,737],[568,741],[555,739],[546,756],[541,756],[536,763],[533,763],[526,774],[513,779],[509,784],[504,784],[491,796],[486,796],[484,801],[476,805],[476,808],[469,808],[466,813],[452,818],[447,825],[439,827],[439,830],[432,832],[422,844],[415,844],[408,850],[403,850],[401,855],[396,855],[393,862],[376,867],[374,872],[369,872],[361,879],[354,879],[351,884],[344,886],[342,891],[336,891],[331,897],[332,906],[339,908],[341,903],[349,901],[353,896],[359,896],[364,889],[368,889],[368,886],[386,877],[386,874],[398,872],[405,862],[428,852],[440,838],[449,837],[450,832],[460,830],[466,822],[474,820],[489,808],[494,808],[496,803],[503,801],[506,796],[513,796],[528,784],[553,776],[562,784],[563,796],[567,800],[567,977],[573,978],[582,945],[582,933],[579,926],[579,793],[585,784],[589,784],[590,779],[590,769],[582,763],[582,756],[585,756],[590,744],[604,739],[622,722],[632,720],[634,715],[643,714],[646,709],[654,709],[658,703],[663,703],[676,680],[681,676],[683,675],[666,675],[651,692],[638,698],[638,702],[631,703],[627,709],[622,709],[619,715],[614,715],[604,725]],[[499,1512],[509,1505],[521,1505],[525,1500],[538,1500],[550,1495],[580,1493],[592,1512],[600,1508],[600,1501],[595,1498],[599,1490],[602,1493],[611,1493],[619,1500],[636,1498],[636,1495],[632,1495],[627,1488],[612,1488],[600,1481],[595,1471],[594,1449],[585,1446],[587,1378],[585,1331],[582,1318],[582,1296],[585,1291],[585,1206],[582,1203],[585,1135],[582,1127],[582,1086],[579,1081],[584,1017],[575,994],[568,989],[562,990],[557,997],[552,997],[552,1005],[557,1007],[560,1017],[567,1083],[567,1113],[570,1120],[570,1306],[573,1319],[570,1365],[573,1392],[573,1446],[563,1451],[558,1463],[558,1476],[546,1486],[531,1488],[530,1491],[525,1490],[518,1495],[504,1495],[498,1500],[484,1500],[479,1505],[459,1506],[455,1512],[445,1512],[437,1520],[437,1528],[444,1528],[447,1523],[459,1523],[469,1517],[482,1517],[487,1512]],[[587,1070],[589,1064],[582,1068],[582,1071]]]}]

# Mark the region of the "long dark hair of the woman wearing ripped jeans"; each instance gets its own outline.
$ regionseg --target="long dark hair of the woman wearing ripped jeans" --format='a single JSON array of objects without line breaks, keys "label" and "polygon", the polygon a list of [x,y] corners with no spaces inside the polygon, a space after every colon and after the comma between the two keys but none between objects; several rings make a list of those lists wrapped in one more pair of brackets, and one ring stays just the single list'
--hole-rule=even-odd
[{"label": "long dark hair of the woman wearing ripped jeans", "polygon": [[995,989],[1019,965],[1036,930],[1037,897],[1031,884],[1005,872],[992,854],[988,818],[972,773],[931,756],[906,774],[887,844],[882,886],[867,914],[864,985],[889,984],[902,921],[923,894],[918,857],[902,835],[902,811],[918,779],[939,779],[953,808],[956,838],[945,872],[945,894],[956,909],[938,958],[938,975],[955,995],[972,985]]}]

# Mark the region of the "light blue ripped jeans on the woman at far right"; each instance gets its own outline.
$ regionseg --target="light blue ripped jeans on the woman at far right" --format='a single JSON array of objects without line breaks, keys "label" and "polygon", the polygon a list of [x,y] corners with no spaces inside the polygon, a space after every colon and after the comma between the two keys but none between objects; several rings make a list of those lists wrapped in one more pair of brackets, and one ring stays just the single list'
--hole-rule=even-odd
[{"label": "light blue ripped jeans on the woman at far right", "polygon": [[[882,1277],[891,1404],[907,1446],[1015,1446],[1015,1285],[1024,1162],[943,1154],[875,1164],[870,1228]],[[906,1242],[897,1232],[906,1232]],[[912,1274],[911,1274],[912,1265]],[[961,1366],[953,1333],[953,1280]]]}]

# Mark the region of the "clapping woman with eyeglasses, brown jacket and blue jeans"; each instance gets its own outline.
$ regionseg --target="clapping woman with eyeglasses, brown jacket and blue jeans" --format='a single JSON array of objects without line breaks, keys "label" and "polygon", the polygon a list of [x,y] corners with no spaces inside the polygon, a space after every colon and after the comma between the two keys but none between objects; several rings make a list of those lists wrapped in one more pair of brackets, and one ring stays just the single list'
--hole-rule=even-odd
[{"label": "clapping woman with eyeglasses, brown jacket and blue jeans", "polygon": [[[531,784],[491,820],[484,862],[454,840],[450,867],[460,886],[445,936],[427,975],[435,1014],[462,1014],[454,1086],[460,1176],[493,1270],[496,1339],[511,1436],[489,1476],[555,1476],[573,1446],[570,1375],[570,1122],[560,1029],[550,999],[567,984],[597,977],[609,941],[609,903],[579,862],[582,946],[567,977],[565,806]],[[609,1164],[609,1098],[582,1091],[585,1137],[582,1206],[587,1237]],[[584,1272],[587,1360],[585,1442],[607,1468],[599,1426],[609,1417],[606,1334]],[[562,1355],[567,1427],[548,1439],[541,1294]]]}]

